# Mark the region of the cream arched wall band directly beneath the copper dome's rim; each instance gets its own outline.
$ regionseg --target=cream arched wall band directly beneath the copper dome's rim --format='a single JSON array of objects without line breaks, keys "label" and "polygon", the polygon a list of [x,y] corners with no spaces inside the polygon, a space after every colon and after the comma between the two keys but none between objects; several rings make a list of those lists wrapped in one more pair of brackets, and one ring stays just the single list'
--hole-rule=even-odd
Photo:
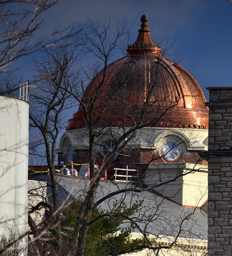
[{"label": "cream arched wall band directly beneath the copper dome's rim", "polygon": [[[105,127],[104,129],[99,128],[99,132],[102,136],[97,138],[97,144],[101,145],[107,139],[112,138],[111,133],[114,134],[115,138],[122,136],[129,128],[118,127]],[[159,149],[162,146],[162,140],[168,136],[175,136],[176,138],[182,139],[183,143],[186,144],[187,150],[207,150],[207,138],[208,131],[202,129],[188,129],[188,128],[159,128],[159,127],[144,127],[136,132],[136,136],[128,146],[134,148],[148,148],[148,149]],[[77,129],[66,131],[60,140],[58,151],[65,151],[65,141],[71,142],[76,149],[88,149],[89,146],[89,133],[88,129]]]}]

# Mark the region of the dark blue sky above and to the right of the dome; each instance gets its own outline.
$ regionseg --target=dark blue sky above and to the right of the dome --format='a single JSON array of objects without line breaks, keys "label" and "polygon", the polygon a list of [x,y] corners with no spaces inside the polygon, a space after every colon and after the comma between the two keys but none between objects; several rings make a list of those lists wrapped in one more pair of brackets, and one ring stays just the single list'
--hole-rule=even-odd
[{"label": "dark blue sky above and to the right of the dome", "polygon": [[207,86],[232,85],[232,3],[227,0],[60,0],[40,33],[110,16],[129,28],[133,43],[142,14],[148,15],[153,39],[168,35],[173,59],[179,57],[205,94]]}]

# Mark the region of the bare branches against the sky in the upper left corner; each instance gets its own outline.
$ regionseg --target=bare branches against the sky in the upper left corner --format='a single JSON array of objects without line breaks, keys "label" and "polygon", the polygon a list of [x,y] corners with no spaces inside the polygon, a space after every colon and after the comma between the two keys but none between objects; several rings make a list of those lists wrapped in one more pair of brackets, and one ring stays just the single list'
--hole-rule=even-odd
[{"label": "bare branches against the sky in the upper left corner", "polygon": [[16,59],[47,46],[47,40],[60,32],[55,30],[49,37],[39,41],[34,38],[35,33],[44,25],[43,20],[38,19],[57,2],[58,0],[1,0],[1,72],[6,72],[7,66]]}]

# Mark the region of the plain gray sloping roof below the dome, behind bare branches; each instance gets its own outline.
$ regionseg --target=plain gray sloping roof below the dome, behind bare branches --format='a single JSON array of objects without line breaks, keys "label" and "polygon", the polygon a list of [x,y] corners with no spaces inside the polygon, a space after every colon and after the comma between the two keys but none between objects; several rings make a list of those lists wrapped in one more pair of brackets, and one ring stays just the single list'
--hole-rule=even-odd
[{"label": "plain gray sloping roof below the dome, behind bare branches", "polygon": [[[90,180],[70,176],[58,176],[58,193],[60,203],[80,199],[86,195]],[[47,193],[51,193],[50,177],[45,175],[30,176],[29,179],[43,180],[48,183]],[[113,183],[102,180],[97,190],[96,201],[109,193],[131,188],[134,184]],[[145,188],[140,185],[138,189]],[[68,199],[67,199],[68,198]],[[66,201],[65,201],[66,200]],[[141,209],[131,219],[139,224],[135,232],[146,231],[158,236],[176,236],[181,229],[180,237],[207,239],[207,216],[204,211],[194,208],[185,208],[168,200],[154,190],[146,190],[141,193],[123,192],[103,201],[99,206],[104,210],[113,208],[114,203],[124,202],[127,205],[142,200]],[[125,221],[123,226],[128,225]]]}]

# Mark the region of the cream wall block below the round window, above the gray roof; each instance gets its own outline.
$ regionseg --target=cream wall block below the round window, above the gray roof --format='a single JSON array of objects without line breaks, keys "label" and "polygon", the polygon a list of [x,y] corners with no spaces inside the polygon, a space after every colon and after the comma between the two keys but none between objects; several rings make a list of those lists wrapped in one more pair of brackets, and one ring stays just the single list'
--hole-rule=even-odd
[{"label": "cream wall block below the round window, above the gray roof", "polygon": [[[201,164],[149,164],[144,183],[155,186],[168,182],[155,189],[184,206],[200,207],[208,196],[207,170],[207,166]],[[180,177],[175,179],[177,176]]]}]

